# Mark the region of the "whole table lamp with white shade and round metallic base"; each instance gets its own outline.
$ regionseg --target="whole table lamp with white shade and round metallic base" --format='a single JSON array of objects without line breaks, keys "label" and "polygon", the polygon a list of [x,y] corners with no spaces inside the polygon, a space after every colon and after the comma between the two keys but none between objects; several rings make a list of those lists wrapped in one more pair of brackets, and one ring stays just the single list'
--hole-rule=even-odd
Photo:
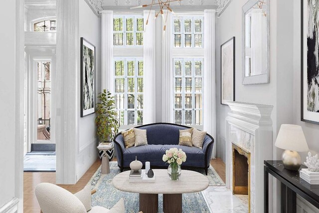
[{"label": "whole table lamp with white shade and round metallic base", "polygon": [[284,167],[293,171],[298,171],[301,166],[298,152],[309,150],[302,127],[292,124],[281,125],[275,146],[285,150],[282,155]]}]

